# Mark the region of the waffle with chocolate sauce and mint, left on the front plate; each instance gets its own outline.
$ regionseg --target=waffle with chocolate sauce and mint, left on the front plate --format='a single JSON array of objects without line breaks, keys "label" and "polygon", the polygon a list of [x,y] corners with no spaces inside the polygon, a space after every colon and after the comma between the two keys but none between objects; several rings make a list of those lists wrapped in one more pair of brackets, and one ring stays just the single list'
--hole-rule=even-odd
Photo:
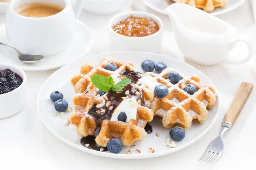
[{"label": "waffle with chocolate sauce and mint, left on the front plate", "polygon": [[[115,63],[118,69],[116,71],[106,70],[104,67],[109,62]],[[71,79],[71,83],[75,88],[76,94],[73,97],[75,112],[70,115],[70,123],[77,127],[76,132],[79,136],[92,136],[97,127],[101,127],[95,141],[99,146],[102,147],[106,147],[111,138],[120,139],[122,144],[125,146],[131,145],[134,140],[143,140],[145,138],[146,132],[144,127],[147,122],[150,122],[153,119],[153,111],[145,106],[142,106],[142,99],[146,98],[148,100],[152,100],[154,99],[154,96],[148,96],[147,93],[139,93],[140,91],[143,91],[143,88],[138,85],[133,85],[132,83],[127,85],[125,88],[133,88],[133,94],[125,94],[125,89],[119,92],[112,92],[113,95],[123,96],[126,97],[126,99],[131,99],[132,97],[137,97],[138,99],[137,104],[135,102],[135,105],[137,105],[136,119],[131,119],[127,123],[110,121],[106,118],[106,115],[108,114],[105,114],[111,112],[111,106],[113,110],[115,109],[113,108],[114,105],[112,104],[107,106],[107,102],[111,101],[109,98],[112,98],[108,97],[110,92],[103,97],[100,97],[98,94],[98,89],[90,82],[90,77],[92,77],[94,74],[101,74],[107,77],[117,75],[120,79],[122,79],[125,76],[120,74],[126,70],[135,71],[134,65],[131,62],[119,62],[112,58],[104,58],[100,61],[99,65],[94,67],[89,63],[81,66],[81,73],[75,75]],[[145,92],[146,91],[148,90],[145,89]],[[134,94],[136,92],[137,94]],[[99,114],[92,114],[92,108],[95,108],[95,105],[97,104],[101,104],[103,99],[105,100],[105,104],[96,111]],[[112,102],[113,101],[111,101],[111,103]],[[102,116],[104,114],[105,116]]]}]

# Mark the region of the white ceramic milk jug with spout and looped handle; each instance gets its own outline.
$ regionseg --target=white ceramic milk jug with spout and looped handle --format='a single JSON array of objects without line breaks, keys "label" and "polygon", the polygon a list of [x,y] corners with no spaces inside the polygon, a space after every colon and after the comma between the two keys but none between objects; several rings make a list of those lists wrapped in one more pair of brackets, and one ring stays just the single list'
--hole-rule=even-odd
[{"label": "white ceramic milk jug with spout and looped handle", "polygon": [[[180,51],[192,61],[214,65],[219,62],[242,64],[251,59],[253,47],[247,41],[237,39],[237,30],[229,23],[183,3],[174,3],[165,11],[172,21]],[[248,56],[243,59],[227,58],[239,41],[246,43]]]}]

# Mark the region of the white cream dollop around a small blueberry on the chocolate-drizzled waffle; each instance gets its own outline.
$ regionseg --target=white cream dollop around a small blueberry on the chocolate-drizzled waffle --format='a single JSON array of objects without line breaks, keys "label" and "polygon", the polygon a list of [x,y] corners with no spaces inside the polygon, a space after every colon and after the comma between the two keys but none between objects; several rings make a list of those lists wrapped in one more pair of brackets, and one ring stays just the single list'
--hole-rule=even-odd
[{"label": "white cream dollop around a small blueberry on the chocolate-drizzled waffle", "polygon": [[136,120],[137,108],[138,108],[138,102],[134,97],[124,99],[113,112],[110,121],[118,121],[117,117],[121,112],[125,112],[127,116],[127,119],[125,121],[126,123],[129,122],[131,119]]}]

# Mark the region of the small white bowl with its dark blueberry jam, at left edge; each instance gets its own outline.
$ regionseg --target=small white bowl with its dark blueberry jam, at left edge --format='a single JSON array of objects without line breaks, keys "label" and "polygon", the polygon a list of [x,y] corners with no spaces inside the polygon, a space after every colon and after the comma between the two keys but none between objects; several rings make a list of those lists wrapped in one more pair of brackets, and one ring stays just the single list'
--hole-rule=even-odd
[{"label": "small white bowl with its dark blueberry jam, at left edge", "polygon": [[21,111],[26,95],[25,72],[15,65],[0,63],[0,118]]}]

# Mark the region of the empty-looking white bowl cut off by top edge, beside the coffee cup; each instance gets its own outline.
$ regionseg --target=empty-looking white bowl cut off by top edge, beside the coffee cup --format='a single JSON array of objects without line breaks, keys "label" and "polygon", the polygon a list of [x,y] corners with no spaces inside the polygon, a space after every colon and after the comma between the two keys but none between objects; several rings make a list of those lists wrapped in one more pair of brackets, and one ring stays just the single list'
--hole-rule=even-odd
[{"label": "empty-looking white bowl cut off by top edge, beside the coffee cup", "polygon": [[119,11],[129,0],[84,0],[84,9],[94,14],[111,14]]}]

